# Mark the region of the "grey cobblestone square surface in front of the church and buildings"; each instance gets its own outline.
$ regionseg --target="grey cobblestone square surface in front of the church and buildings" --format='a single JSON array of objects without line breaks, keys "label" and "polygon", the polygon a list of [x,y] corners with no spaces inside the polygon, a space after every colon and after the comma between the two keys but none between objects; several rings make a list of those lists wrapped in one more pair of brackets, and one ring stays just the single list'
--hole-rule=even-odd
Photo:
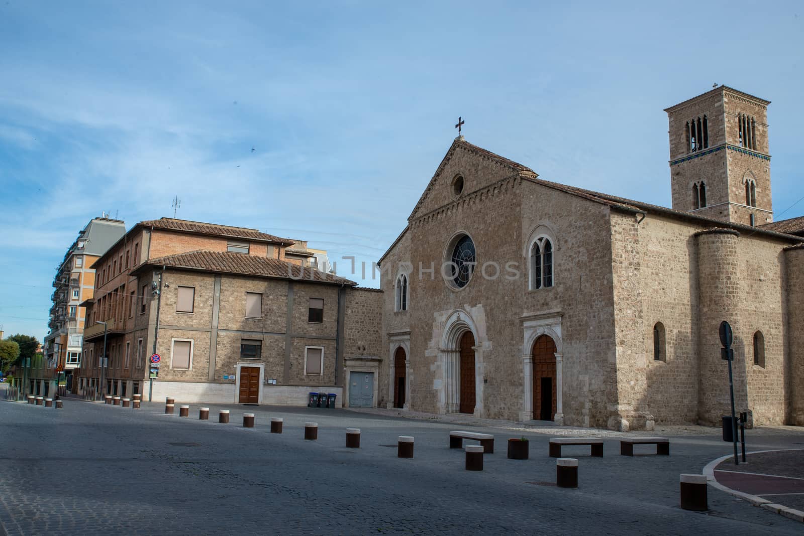
[{"label": "grey cobblestone square surface in front of the church and buildings", "polygon": [[[342,409],[207,404],[210,420],[65,400],[64,409],[0,401],[0,533],[6,534],[802,534],[802,524],[709,489],[708,513],[679,508],[679,473],[728,454],[716,435],[671,436],[671,456],[605,457],[574,447],[579,488],[560,489],[550,433],[494,422],[484,471],[464,470],[449,449],[455,422]],[[218,410],[232,410],[219,424]],[[256,428],[242,428],[242,413]],[[285,419],[269,433],[269,417]],[[307,421],[318,441],[304,441]],[[461,428],[471,423],[461,424]],[[345,428],[361,428],[346,449]],[[396,438],[416,437],[412,460]],[[527,437],[531,459],[506,457]],[[800,429],[755,430],[749,448],[790,449]],[[649,453],[650,447],[639,453]]]}]

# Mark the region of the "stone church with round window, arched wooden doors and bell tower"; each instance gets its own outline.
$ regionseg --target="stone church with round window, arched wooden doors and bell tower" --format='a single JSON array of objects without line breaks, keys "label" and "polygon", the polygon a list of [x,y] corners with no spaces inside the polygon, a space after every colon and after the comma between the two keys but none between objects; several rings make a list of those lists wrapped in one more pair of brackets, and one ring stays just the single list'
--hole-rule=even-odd
[{"label": "stone church with round window, arched wooden doors and bell tower", "polygon": [[769,101],[667,108],[672,209],[539,179],[459,136],[380,259],[378,402],[617,430],[804,425],[804,217],[773,222]]}]

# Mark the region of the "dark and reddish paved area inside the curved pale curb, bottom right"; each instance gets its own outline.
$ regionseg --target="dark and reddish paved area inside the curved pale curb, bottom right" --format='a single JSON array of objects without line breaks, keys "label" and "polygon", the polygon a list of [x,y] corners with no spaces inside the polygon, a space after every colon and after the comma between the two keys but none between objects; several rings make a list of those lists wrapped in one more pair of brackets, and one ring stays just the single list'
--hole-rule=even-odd
[{"label": "dark and reddish paved area inside the curved pale curb, bottom right", "polygon": [[704,475],[717,489],[804,522],[804,511],[794,507],[804,503],[804,477],[799,476],[804,472],[804,449],[759,451],[746,458],[748,463],[733,465],[731,455],[720,457],[709,462]]}]

